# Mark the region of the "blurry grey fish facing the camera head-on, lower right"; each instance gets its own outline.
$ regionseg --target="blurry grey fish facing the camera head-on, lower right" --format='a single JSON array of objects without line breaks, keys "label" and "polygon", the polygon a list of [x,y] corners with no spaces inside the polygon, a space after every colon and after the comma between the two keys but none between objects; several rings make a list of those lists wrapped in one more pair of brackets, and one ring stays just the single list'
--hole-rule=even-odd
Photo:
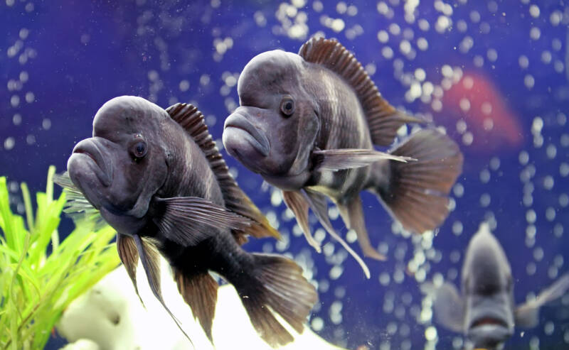
[{"label": "blurry grey fish facing the camera head-on, lower right", "polygon": [[535,300],[516,307],[510,263],[487,224],[472,236],[464,255],[462,295],[450,283],[422,286],[434,296],[437,322],[464,334],[474,347],[486,349],[496,349],[514,334],[515,326],[536,327],[540,307],[563,296],[568,288],[569,274],[565,274]]}]

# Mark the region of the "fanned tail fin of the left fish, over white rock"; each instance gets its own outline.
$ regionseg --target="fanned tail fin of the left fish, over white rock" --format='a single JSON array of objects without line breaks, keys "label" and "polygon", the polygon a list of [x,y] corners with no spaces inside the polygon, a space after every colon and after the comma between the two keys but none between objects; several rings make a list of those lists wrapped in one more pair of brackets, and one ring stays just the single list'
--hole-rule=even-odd
[{"label": "fanned tail fin of the left fish, over white rock", "polygon": [[[304,322],[318,296],[304,277],[302,268],[282,256],[253,254],[253,280],[235,285],[253,327],[270,346],[284,345],[294,340],[292,335],[272,315],[277,312],[292,328],[302,333]],[[269,309],[270,307],[270,309]]]}]

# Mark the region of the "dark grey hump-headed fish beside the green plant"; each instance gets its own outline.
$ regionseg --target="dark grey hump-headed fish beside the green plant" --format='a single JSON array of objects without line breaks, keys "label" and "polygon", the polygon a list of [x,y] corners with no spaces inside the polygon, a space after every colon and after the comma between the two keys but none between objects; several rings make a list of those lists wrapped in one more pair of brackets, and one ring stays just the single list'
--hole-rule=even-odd
[{"label": "dark grey hump-headed fish beside the green plant", "polygon": [[73,149],[68,175],[58,179],[71,197],[68,211],[95,207],[117,230],[119,256],[134,287],[140,258],[152,292],[168,310],[160,292],[164,256],[210,340],[218,283],[209,271],[235,286],[271,346],[293,339],[269,307],[302,332],[317,293],[292,260],[241,248],[247,235],[280,235],[228,173],[191,104],[165,111],[140,97],[111,99],[95,115],[93,137]]}]

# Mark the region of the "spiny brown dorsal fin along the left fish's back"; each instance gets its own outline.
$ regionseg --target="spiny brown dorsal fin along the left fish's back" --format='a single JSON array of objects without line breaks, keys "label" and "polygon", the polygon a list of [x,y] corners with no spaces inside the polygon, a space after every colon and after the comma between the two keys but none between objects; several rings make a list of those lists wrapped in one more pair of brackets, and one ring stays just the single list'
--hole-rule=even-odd
[{"label": "spiny brown dorsal fin along the left fish's back", "polygon": [[169,106],[166,111],[176,123],[180,124],[188,132],[206,156],[223,193],[225,207],[255,222],[255,224],[244,229],[244,231],[232,230],[233,236],[235,236],[238,243],[243,244],[247,241],[245,234],[250,234],[257,238],[271,236],[279,239],[279,232],[269,224],[265,215],[251,202],[251,199],[245,195],[245,192],[240,189],[233,176],[229,173],[229,168],[208,131],[203,114],[191,104],[180,103]]}]

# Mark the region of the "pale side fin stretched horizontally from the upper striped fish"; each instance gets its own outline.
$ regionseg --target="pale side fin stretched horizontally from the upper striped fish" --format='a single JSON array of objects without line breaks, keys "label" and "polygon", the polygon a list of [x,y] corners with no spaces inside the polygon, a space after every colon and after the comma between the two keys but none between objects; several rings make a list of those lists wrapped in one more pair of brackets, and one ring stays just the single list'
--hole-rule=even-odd
[{"label": "pale side fin stretched horizontally from the upper striped fish", "polygon": [[362,168],[382,159],[396,160],[403,163],[406,163],[408,160],[415,160],[414,158],[393,155],[373,149],[357,148],[316,150],[312,152],[312,155],[316,170],[331,171]]}]

